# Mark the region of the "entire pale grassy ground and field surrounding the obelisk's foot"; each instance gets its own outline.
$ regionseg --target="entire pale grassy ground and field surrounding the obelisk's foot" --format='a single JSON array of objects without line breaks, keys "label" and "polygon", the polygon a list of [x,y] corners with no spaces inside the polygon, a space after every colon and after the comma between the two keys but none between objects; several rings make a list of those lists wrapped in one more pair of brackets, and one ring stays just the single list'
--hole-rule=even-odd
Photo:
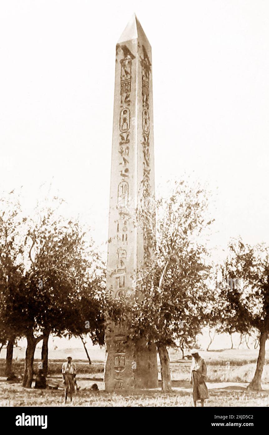
[{"label": "entire pale grassy ground and field surrounding the obelisk's foot", "polygon": [[[210,398],[206,406],[269,406],[269,361],[263,371],[264,391],[256,393],[246,390],[255,371],[256,351],[223,350],[200,352],[207,361],[207,386]],[[92,355],[91,355],[92,356]],[[162,394],[159,388],[136,392],[132,395],[110,394],[104,391],[103,361],[76,360],[77,383],[80,387],[73,404],[63,405],[63,387],[60,375],[64,359],[49,361],[48,379],[59,384],[58,390],[35,390],[11,384],[4,378],[4,359],[0,360],[0,405],[11,406],[192,406],[191,387],[188,382],[190,361],[180,359],[180,352],[170,350],[171,377],[173,391]],[[38,368],[35,361],[35,371]],[[23,360],[14,361],[13,369],[17,374],[23,372]],[[160,371],[160,367],[159,367]],[[161,379],[159,373],[159,379]],[[99,391],[92,391],[91,385],[98,384]]]}]

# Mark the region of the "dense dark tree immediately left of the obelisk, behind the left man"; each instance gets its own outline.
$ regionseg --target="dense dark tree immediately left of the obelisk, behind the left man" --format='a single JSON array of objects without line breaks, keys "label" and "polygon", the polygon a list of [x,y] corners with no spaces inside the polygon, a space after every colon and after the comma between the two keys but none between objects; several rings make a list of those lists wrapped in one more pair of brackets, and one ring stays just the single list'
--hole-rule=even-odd
[{"label": "dense dark tree immediately left of the obelisk, behind the left man", "polygon": [[[93,242],[79,223],[57,212],[58,208],[51,207],[39,210],[26,236],[31,263],[26,273],[25,300],[29,324],[25,332],[23,385],[27,387],[33,379],[36,344],[43,340],[42,363],[46,374],[49,335],[65,335],[72,331],[72,324],[79,321],[79,304],[84,292],[89,290],[93,264],[98,259]],[[90,303],[89,299],[87,302]]]}]

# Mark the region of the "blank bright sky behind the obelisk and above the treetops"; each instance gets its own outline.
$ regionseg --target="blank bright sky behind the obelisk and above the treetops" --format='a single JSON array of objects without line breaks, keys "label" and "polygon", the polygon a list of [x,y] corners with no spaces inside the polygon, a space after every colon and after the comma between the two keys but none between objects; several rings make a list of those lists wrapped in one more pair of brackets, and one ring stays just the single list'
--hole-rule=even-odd
[{"label": "blank bright sky behind the obelisk and above the treetops", "polygon": [[216,194],[216,244],[269,242],[266,0],[1,2],[1,189],[23,186],[30,209],[52,181],[106,240],[115,45],[134,12],[152,46],[156,186],[192,174]]}]

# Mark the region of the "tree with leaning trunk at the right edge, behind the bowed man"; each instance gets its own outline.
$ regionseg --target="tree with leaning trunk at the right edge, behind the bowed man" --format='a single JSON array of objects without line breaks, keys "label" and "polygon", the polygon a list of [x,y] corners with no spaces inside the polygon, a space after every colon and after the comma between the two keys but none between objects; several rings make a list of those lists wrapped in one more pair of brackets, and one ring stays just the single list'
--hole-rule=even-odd
[{"label": "tree with leaning trunk at the right edge, behind the bowed man", "polygon": [[[218,301],[224,329],[249,334],[259,333],[256,371],[248,388],[260,391],[265,344],[269,334],[269,248],[250,246],[241,239],[230,242],[230,254],[224,262],[223,276],[233,282],[220,290]],[[232,281],[231,281],[232,280]]]}]

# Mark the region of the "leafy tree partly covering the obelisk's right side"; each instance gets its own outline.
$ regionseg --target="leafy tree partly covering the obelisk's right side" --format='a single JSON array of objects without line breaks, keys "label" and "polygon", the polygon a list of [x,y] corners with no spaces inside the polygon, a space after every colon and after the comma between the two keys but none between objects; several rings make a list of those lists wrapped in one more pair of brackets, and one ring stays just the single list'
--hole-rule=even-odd
[{"label": "leafy tree partly covering the obelisk's right side", "polygon": [[207,286],[210,264],[203,238],[212,223],[207,204],[207,193],[200,186],[181,181],[169,198],[154,203],[156,209],[138,209],[136,221],[147,241],[146,261],[134,294],[111,301],[108,313],[113,321],[127,325],[130,339],[143,337],[156,344],[164,392],[171,390],[167,347],[177,340],[195,339],[213,298]]}]

